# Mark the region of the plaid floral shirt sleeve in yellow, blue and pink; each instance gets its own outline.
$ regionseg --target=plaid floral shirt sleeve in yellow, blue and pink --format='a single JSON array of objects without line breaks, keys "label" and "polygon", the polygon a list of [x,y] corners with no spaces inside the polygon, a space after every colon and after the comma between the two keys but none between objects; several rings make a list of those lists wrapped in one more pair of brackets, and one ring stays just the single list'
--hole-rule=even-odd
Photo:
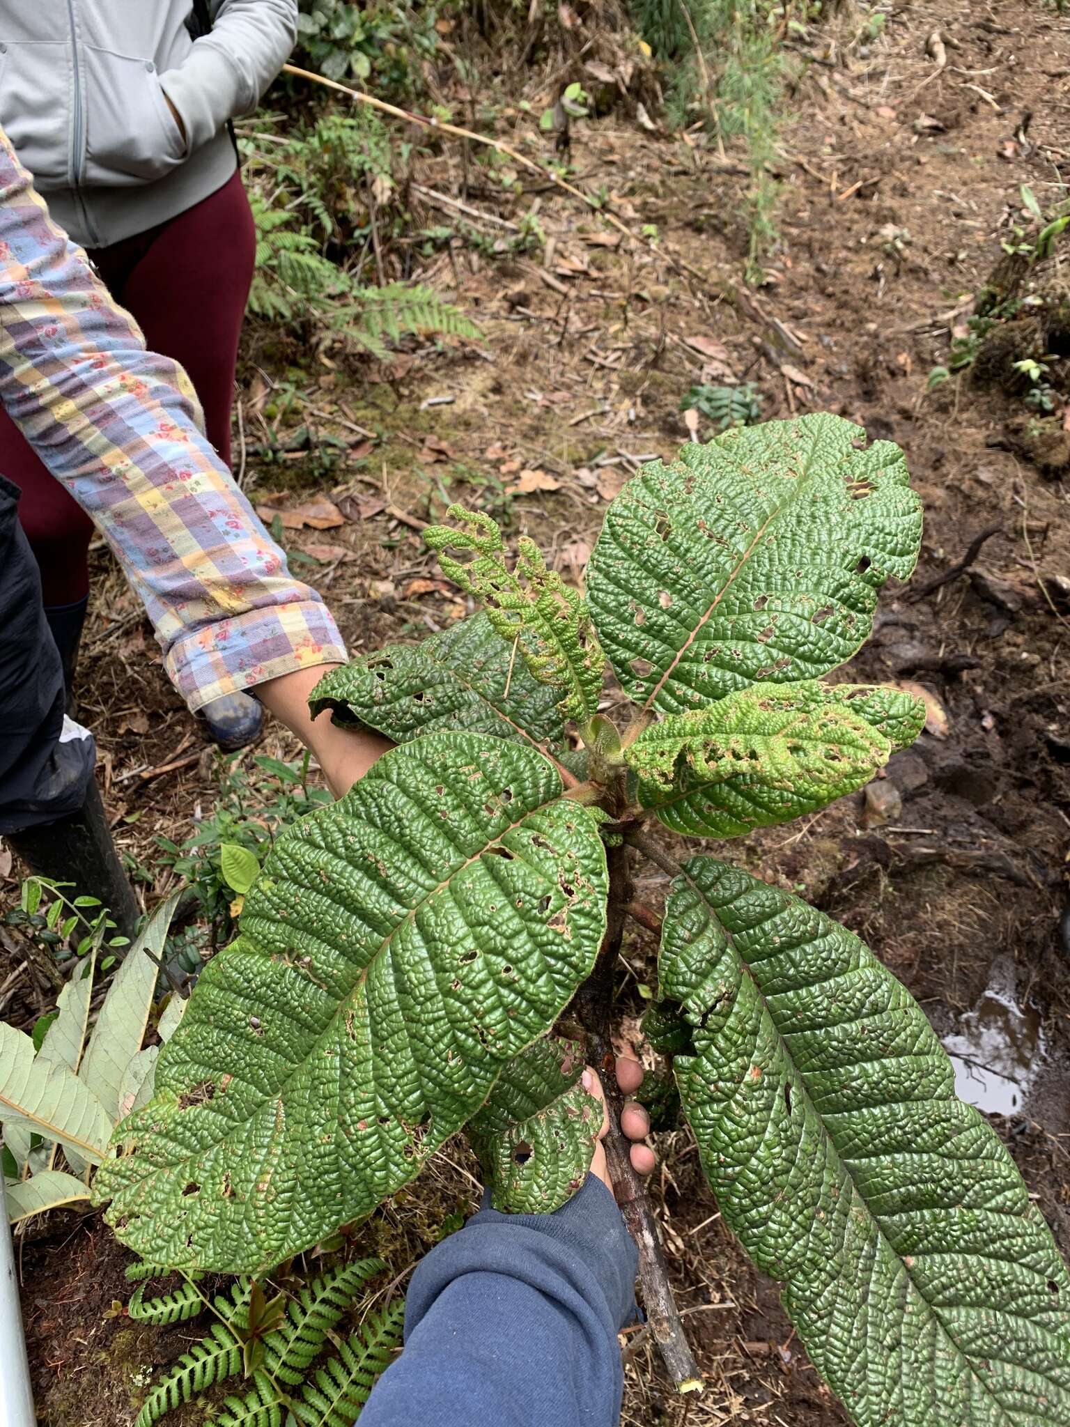
[{"label": "plaid floral shirt sleeve in yellow, blue and pink", "polygon": [[191,709],[345,661],[322,599],[204,440],[185,372],[146,352],[3,131],[0,401],[100,527]]}]

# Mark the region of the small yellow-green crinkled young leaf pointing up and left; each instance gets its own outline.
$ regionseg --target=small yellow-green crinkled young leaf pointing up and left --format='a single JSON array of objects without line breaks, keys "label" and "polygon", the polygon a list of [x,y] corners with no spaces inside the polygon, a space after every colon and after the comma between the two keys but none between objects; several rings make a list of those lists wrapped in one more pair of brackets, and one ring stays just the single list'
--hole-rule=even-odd
[{"label": "small yellow-green crinkled young leaf pointing up and left", "polygon": [[[546,568],[535,541],[522,535],[509,569],[498,524],[482,511],[451,505],[461,529],[432,525],[424,539],[438,554],[442,572],[486,609],[491,628],[525,661],[532,676],[558,689],[562,718],[585,723],[598,712],[605,682],[605,654],[595,636],[586,601]],[[472,552],[455,559],[448,549]]]}]

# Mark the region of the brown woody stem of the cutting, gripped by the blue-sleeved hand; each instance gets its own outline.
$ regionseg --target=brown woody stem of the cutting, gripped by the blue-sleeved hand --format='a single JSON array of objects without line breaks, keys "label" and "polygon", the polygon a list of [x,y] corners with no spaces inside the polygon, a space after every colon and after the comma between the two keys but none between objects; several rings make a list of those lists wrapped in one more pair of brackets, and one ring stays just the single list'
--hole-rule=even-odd
[{"label": "brown woody stem of the cutting, gripped by the blue-sleeved hand", "polygon": [[609,848],[606,855],[609,862],[609,920],[595,969],[576,992],[574,1006],[586,1032],[588,1057],[602,1077],[609,1112],[609,1130],[603,1140],[605,1157],[616,1203],[639,1249],[639,1287],[646,1319],[676,1391],[702,1391],[702,1374],[688,1346],[683,1324],[672,1297],[658,1226],[642,1180],[632,1169],[631,1146],[621,1129],[623,1096],[616,1083],[616,1056],[609,1027],[613,972],[621,952],[625,909],[631,902],[632,882],[628,870],[628,849],[623,846]]}]

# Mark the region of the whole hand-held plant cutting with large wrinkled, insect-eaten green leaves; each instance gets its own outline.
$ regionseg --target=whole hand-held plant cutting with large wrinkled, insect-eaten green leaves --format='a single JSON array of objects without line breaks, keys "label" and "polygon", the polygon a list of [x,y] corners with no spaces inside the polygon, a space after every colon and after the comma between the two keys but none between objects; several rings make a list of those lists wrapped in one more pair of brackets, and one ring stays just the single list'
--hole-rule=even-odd
[{"label": "whole hand-held plant cutting with large wrinkled, insect-eaten green leaves", "polygon": [[[912,695],[827,679],[917,558],[902,451],[822,414],[686,445],[609,505],[585,595],[531,539],[514,558],[449,514],[428,544],[482,611],[314,691],[398,746],[277,839],[97,1174],[110,1223],[154,1263],[257,1274],[465,1126],[499,1207],[552,1210],[599,1119],[584,1059],[619,1104],[635,915],[661,923],[649,1033],[722,1217],[852,1418],[1070,1424],[1070,1277],[922,1010],[829,916],[672,849],[812,813],[922,728]],[[638,856],[666,873],[662,916],[635,903]],[[619,1149],[611,1127],[615,1177]],[[655,1340],[693,1387],[621,1183]]]}]

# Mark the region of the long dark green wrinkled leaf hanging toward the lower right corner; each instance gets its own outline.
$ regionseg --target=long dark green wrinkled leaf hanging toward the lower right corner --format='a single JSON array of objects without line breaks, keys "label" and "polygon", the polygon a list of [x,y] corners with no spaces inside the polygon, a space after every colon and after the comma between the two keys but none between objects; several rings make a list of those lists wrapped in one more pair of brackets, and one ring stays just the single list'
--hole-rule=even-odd
[{"label": "long dark green wrinkled leaf hanging toward the lower right corner", "polygon": [[1070,1424],[1070,1276],[907,990],[845,928],[712,858],[661,990],[725,1222],[860,1427]]}]

